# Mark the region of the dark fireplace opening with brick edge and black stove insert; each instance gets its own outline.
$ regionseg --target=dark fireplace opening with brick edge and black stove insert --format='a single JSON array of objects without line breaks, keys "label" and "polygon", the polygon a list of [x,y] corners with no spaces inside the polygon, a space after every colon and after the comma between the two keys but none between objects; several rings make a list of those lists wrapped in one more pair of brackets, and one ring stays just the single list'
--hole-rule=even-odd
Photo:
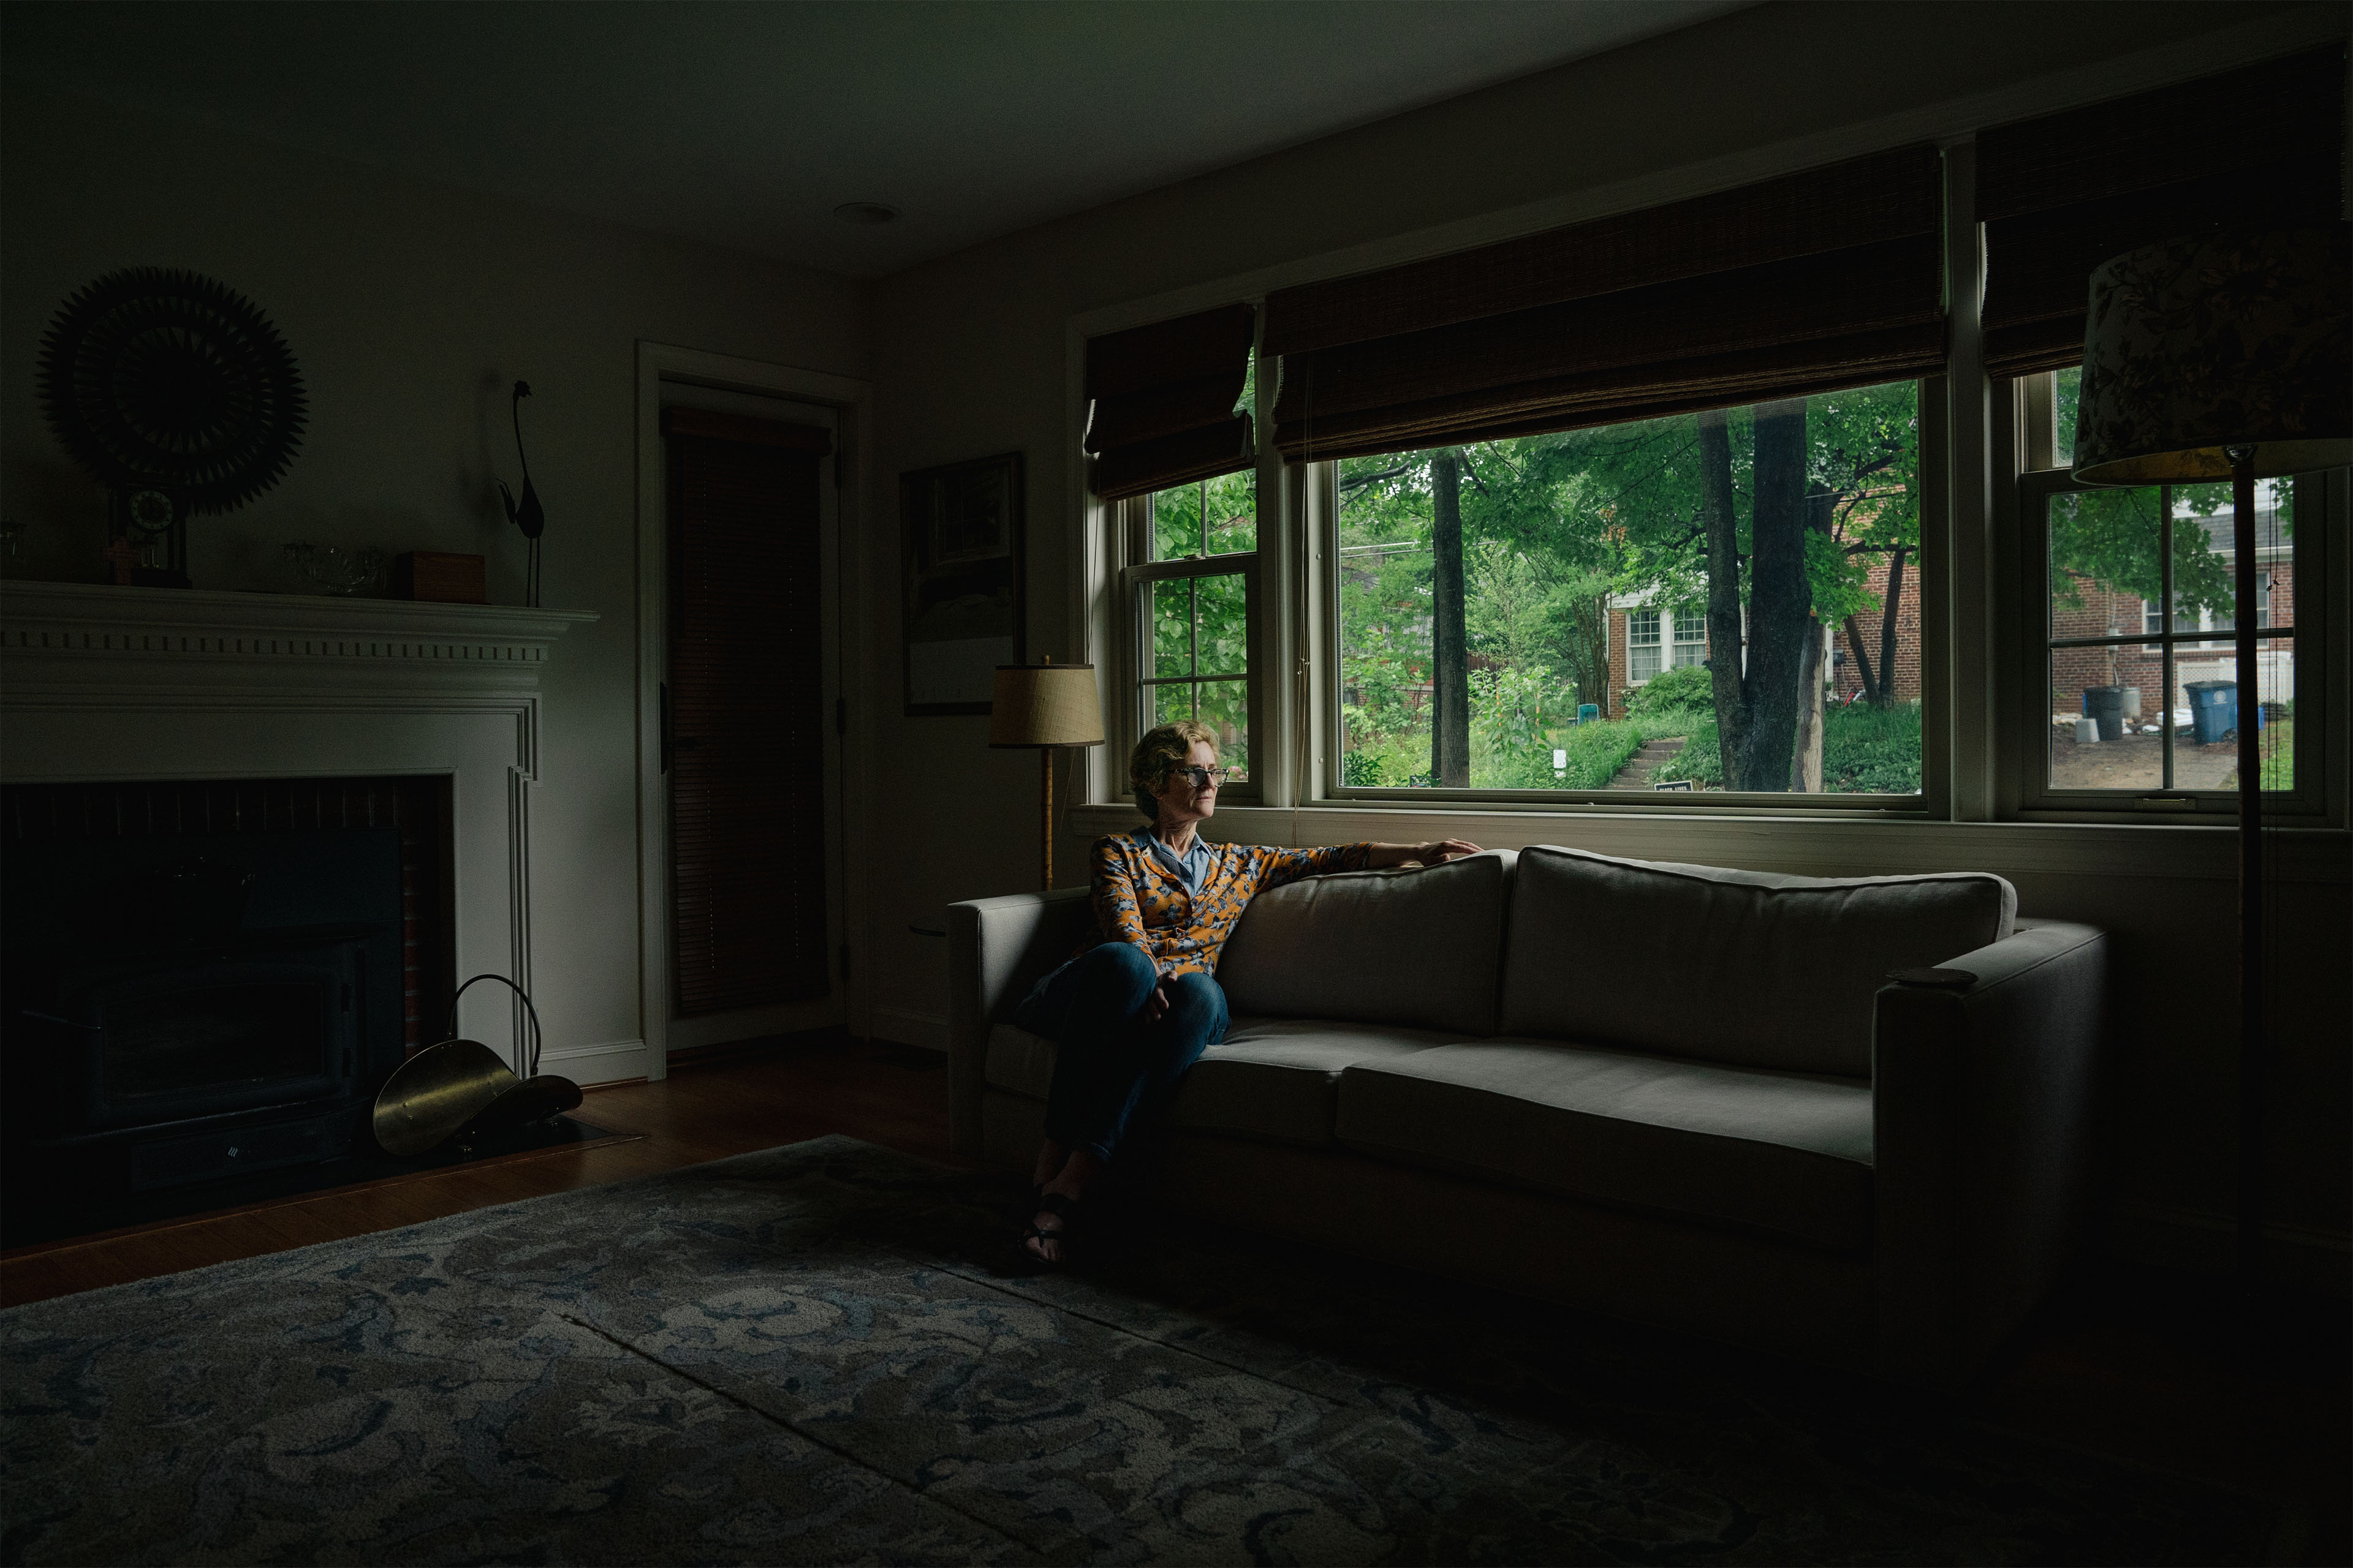
[{"label": "dark fireplace opening with brick edge and black stove insert", "polygon": [[445,929],[435,792],[447,783],[7,788],[12,1227],[28,1204],[367,1147],[438,969],[421,954]]}]

